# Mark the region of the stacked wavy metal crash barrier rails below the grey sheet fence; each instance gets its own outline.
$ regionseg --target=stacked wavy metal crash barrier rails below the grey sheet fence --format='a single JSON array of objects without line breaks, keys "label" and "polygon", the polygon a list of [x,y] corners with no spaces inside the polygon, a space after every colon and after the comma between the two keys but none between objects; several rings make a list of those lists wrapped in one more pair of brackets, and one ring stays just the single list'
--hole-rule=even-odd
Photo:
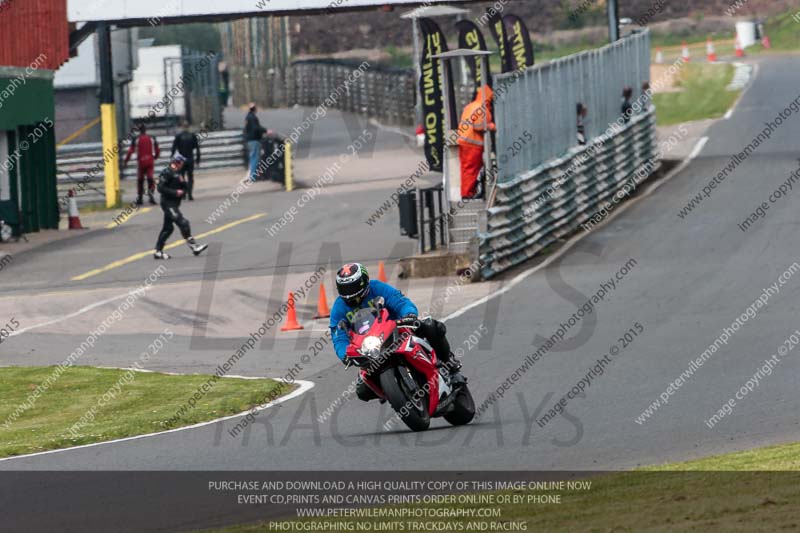
[{"label": "stacked wavy metal crash barrier rails below the grey sheet fence", "polygon": [[478,235],[482,276],[491,278],[575,232],[615,194],[624,194],[637,171],[652,173],[659,167],[656,144],[651,106],[616,134],[596,137],[589,145],[498,183],[495,204],[488,210],[488,230]]}]

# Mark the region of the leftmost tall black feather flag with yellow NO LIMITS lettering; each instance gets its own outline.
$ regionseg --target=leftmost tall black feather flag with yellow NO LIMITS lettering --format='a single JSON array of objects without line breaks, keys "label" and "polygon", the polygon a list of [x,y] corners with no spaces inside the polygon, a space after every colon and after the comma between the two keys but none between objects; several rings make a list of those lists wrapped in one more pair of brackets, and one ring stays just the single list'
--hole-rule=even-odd
[{"label": "leftmost tall black feather flag with yellow NO LIMITS lettering", "polygon": [[[421,76],[419,94],[422,98],[422,119],[425,129],[425,158],[432,171],[442,172],[444,162],[444,136],[451,124],[444,123],[444,91],[442,89],[441,62],[433,56],[447,52],[447,40],[444,33],[431,19],[419,19],[422,36],[422,57],[420,58]],[[455,92],[450,63],[445,70],[450,92],[450,116],[457,120],[455,110]]]}]

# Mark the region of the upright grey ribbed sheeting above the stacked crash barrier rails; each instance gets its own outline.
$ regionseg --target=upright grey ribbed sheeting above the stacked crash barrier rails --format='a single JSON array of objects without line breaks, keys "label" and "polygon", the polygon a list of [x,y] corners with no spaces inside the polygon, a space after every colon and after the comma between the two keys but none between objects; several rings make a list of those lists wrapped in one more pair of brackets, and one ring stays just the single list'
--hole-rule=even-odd
[{"label": "upright grey ribbed sheeting above the stacked crash barrier rails", "polygon": [[641,94],[650,79],[650,32],[496,77],[498,180],[513,179],[577,143],[577,106],[586,108],[585,136],[604,133],[620,117],[622,91]]}]

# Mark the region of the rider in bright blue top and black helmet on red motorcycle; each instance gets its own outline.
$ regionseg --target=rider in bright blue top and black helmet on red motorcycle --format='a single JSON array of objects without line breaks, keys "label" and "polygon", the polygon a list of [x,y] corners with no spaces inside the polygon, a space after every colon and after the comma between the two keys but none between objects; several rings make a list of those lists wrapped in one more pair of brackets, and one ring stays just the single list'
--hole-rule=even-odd
[{"label": "rider in bright blue top and black helmet on red motorcycle", "polygon": [[[452,375],[458,374],[461,363],[450,351],[445,325],[432,318],[419,320],[417,306],[391,285],[378,280],[370,280],[364,265],[348,263],[340,268],[336,273],[336,291],[339,293],[339,297],[336,298],[333,308],[331,308],[331,338],[336,355],[343,363],[346,364],[345,354],[350,345],[350,337],[346,331],[339,329],[339,322],[345,320],[349,324],[357,310],[368,307],[374,309],[374,301],[383,297],[383,305],[389,312],[389,318],[400,324],[416,326],[415,335],[430,343],[436,352],[437,359],[450,370]],[[365,402],[377,398],[372,389],[360,378],[356,385],[356,394]]]}]

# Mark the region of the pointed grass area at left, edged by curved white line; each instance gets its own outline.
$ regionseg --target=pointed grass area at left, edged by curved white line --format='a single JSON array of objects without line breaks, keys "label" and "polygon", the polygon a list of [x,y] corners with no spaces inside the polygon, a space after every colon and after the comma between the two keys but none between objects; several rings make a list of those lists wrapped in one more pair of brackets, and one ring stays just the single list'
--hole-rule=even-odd
[{"label": "pointed grass area at left, edged by curved white line", "polygon": [[[223,378],[173,418],[212,376],[175,376],[151,372],[67,368],[38,395],[32,406],[13,417],[18,406],[56,367],[0,368],[0,457],[55,450],[122,437],[144,435],[241,413],[290,392],[294,387],[272,379]],[[127,376],[127,377],[126,377]],[[132,379],[131,379],[132,377]],[[281,390],[281,388],[285,390]],[[104,399],[105,395],[105,399]],[[92,411],[94,409],[94,411]],[[83,422],[77,432],[73,424]]]}]

